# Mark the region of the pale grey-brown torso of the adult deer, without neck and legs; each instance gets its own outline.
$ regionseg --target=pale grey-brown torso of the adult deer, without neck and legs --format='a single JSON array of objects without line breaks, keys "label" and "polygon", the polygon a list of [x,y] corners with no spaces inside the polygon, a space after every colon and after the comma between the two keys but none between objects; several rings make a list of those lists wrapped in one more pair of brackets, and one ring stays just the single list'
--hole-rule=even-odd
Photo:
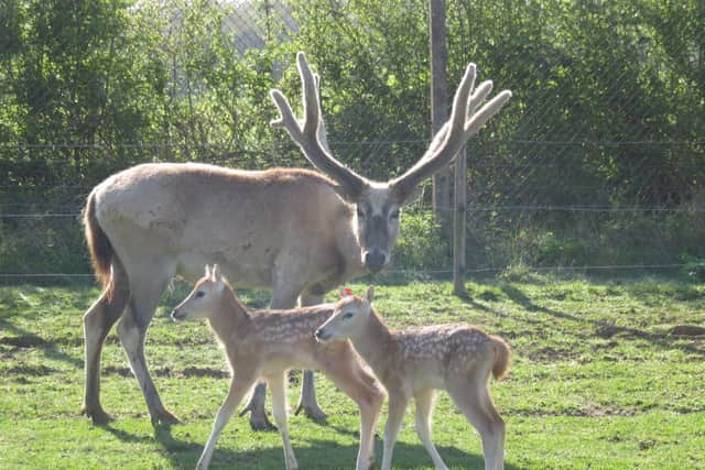
[{"label": "pale grey-brown torso of the adult deer, without neck and legs", "polygon": [[335,221],[348,210],[330,181],[305,170],[144,164],[94,192],[121,258],[169,258],[189,280],[217,262],[234,283],[251,286],[269,286],[282,251],[305,262],[314,247],[333,250]]}]

